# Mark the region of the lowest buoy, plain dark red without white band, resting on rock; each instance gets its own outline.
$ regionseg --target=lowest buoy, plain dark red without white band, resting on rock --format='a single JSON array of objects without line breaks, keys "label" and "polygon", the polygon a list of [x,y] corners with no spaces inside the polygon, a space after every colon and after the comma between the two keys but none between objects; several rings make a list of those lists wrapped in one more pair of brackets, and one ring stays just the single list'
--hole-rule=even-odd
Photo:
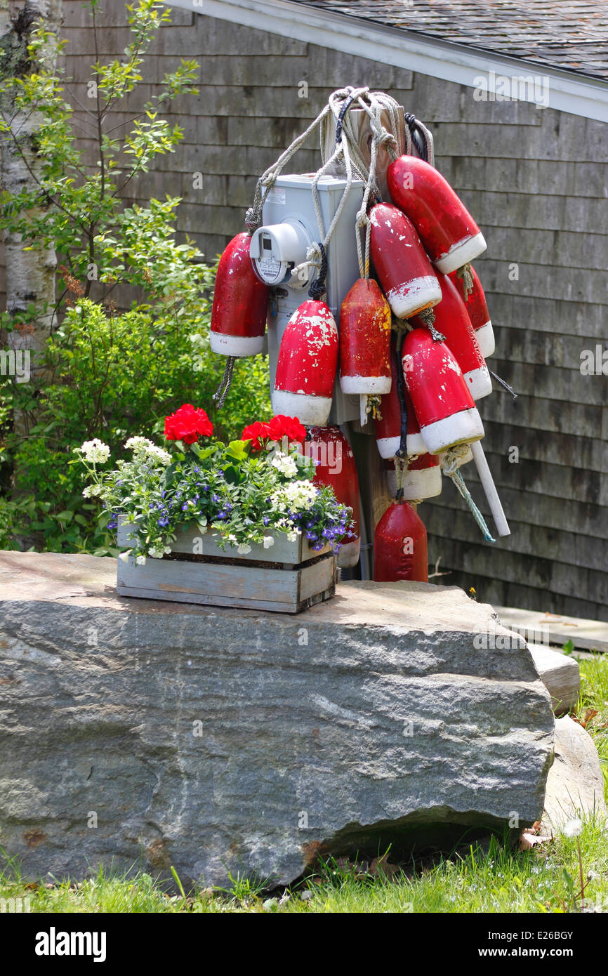
[{"label": "lowest buoy, plain dark red without white band, resting on rock", "polygon": [[409,502],[393,502],[376,526],[374,580],[428,583],[425,524]]}]

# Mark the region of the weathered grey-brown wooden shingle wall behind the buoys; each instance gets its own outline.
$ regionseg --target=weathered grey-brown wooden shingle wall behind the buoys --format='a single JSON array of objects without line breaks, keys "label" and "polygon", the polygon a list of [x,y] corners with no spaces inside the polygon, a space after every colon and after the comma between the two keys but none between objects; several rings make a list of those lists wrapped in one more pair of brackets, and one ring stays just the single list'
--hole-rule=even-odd
[{"label": "weathered grey-brown wooden shingle wall behind the buoys", "polygon": [[[120,54],[124,4],[102,6],[101,54]],[[451,575],[439,582],[472,586],[481,600],[608,620],[608,382],[580,371],[582,350],[606,347],[608,127],[524,102],[475,102],[472,89],[336,53],[322,37],[313,46],[181,9],[172,15],[153,74],[128,107],[137,110],[179,57],[200,61],[200,93],[177,106],[184,143],[133,198],[182,195],[180,228],[209,260],[242,229],[256,176],[332,89],[390,92],[432,129],[437,165],[488,241],[475,266],[497,334],[490,366],[519,395],[496,389],[480,403],[511,536],[486,545],[446,482],[420,509],[429,561],[441,556]],[[81,102],[94,50],[87,23],[86,9],[68,0],[66,66]],[[318,162],[311,142],[291,172]],[[463,472],[486,512],[472,466]]]}]

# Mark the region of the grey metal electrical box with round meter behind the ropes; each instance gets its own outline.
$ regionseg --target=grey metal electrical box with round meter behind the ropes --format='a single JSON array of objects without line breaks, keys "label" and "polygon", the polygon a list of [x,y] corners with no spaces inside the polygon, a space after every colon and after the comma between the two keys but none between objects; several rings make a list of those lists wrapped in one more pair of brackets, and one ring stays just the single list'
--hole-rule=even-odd
[{"label": "grey metal electrical box with round meter behind the ropes", "polygon": [[[251,242],[251,257],[258,273],[272,286],[268,311],[268,356],[270,391],[281,338],[285,327],[299,305],[308,298],[310,282],[316,270],[304,280],[294,280],[290,271],[305,260],[312,241],[321,240],[312,199],[313,174],[278,177],[263,205],[263,226]],[[321,213],[327,232],[340,205],[346,181],[343,177],[321,177],[317,184]],[[325,302],[336,319],[340,333],[340,306],[345,294],[359,275],[355,238],[355,219],[363,200],[364,183],[353,180],[345,207],[327,247],[327,293]],[[345,396],[338,376],[329,424],[358,420],[359,397]]]}]

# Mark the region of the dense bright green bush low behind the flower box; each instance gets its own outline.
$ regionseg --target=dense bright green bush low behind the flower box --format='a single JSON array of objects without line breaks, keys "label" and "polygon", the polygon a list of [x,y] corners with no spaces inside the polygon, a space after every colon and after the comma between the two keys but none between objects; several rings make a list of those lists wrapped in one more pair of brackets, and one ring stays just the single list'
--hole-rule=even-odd
[{"label": "dense bright green bush low behind the flower box", "polygon": [[[206,274],[211,284],[213,270]],[[115,554],[107,519],[98,524],[97,506],[82,496],[83,473],[68,464],[85,440],[99,437],[113,455],[124,457],[129,436],[154,436],[165,415],[184,402],[204,404],[223,437],[239,436],[252,414],[269,415],[263,356],[237,363],[223,410],[215,411],[212,396],[224,363],[209,349],[209,316],[207,299],[199,299],[189,316],[193,331],[183,316],[160,317],[143,306],[107,315],[81,299],[68,309],[48,344],[53,382],[41,395],[37,423],[28,437],[13,443],[9,433],[5,441],[23,472],[24,497],[0,503],[0,548],[15,545],[11,536],[20,531],[42,534],[53,551]],[[13,387],[13,396],[24,401],[23,386]]]}]

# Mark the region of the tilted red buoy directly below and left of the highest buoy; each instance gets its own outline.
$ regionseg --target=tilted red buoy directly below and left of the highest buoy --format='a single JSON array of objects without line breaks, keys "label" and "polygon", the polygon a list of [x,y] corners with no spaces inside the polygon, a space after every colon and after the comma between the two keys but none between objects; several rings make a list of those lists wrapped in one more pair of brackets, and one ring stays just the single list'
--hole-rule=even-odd
[{"label": "tilted red buoy directly below and left of the highest buoy", "polygon": [[370,222],[372,261],[397,318],[436,305],[439,282],[412,222],[389,203],[372,207]]}]

